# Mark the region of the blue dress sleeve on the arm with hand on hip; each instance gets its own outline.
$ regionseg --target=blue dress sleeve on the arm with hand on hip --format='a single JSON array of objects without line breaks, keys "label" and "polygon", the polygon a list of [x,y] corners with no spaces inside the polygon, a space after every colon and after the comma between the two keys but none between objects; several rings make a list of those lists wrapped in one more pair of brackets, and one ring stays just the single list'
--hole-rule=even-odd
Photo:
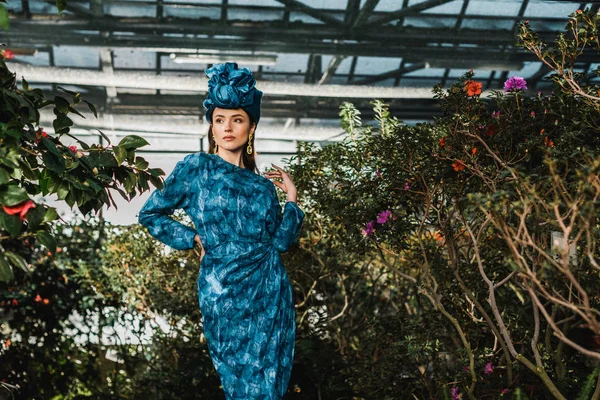
[{"label": "blue dress sleeve on the arm with hand on hip", "polygon": [[165,179],[161,190],[155,189],[142,206],[138,222],[148,228],[154,238],[177,250],[194,248],[196,230],[170,217],[176,209],[186,208],[189,193],[187,162],[190,156],[179,161]]}]

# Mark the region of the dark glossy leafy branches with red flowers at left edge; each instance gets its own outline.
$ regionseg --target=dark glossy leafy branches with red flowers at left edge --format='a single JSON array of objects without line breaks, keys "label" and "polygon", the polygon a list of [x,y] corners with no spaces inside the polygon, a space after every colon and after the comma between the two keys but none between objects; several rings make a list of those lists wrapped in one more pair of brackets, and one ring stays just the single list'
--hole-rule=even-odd
[{"label": "dark glossy leafy branches with red flowers at left edge", "polygon": [[[135,155],[137,148],[148,144],[139,136],[126,136],[118,145],[104,147],[90,146],[71,135],[70,115],[83,117],[76,109],[81,103],[97,116],[94,105],[79,93],[61,88],[70,100],[62,96],[47,100],[25,79],[22,86],[17,88],[15,74],[0,60],[0,282],[12,279],[13,268],[29,270],[18,251],[5,248],[6,240],[36,240],[52,253],[56,250],[56,240],[50,234],[58,218],[56,210],[36,204],[32,196],[56,195],[85,215],[105,205],[116,208],[111,189],[130,200],[136,189],[149,190],[148,181],[161,187],[160,176],[164,175]],[[39,110],[48,106],[56,116],[55,136],[39,126]],[[110,145],[108,137],[100,133]],[[64,136],[75,140],[80,148],[63,144]]]}]

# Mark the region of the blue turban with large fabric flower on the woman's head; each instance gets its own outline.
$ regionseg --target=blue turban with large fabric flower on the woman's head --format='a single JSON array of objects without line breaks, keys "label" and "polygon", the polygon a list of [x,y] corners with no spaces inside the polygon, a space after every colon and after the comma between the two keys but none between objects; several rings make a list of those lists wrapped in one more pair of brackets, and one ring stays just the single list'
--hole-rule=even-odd
[{"label": "blue turban with large fabric flower on the woman's head", "polygon": [[208,98],[204,100],[206,120],[212,122],[215,107],[241,108],[258,124],[262,92],[256,89],[256,80],[248,68],[237,63],[215,64],[206,70]]}]

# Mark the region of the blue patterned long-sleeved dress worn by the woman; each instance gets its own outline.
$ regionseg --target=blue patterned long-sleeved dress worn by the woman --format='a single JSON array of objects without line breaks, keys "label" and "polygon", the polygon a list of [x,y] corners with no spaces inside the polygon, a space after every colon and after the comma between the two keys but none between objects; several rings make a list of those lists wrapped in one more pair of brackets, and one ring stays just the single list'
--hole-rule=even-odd
[{"label": "blue patterned long-sleeved dress worn by the woman", "polygon": [[[169,215],[182,208],[196,229]],[[279,252],[298,240],[304,212],[283,208],[269,179],[195,153],[179,161],[139,212],[148,232],[178,249],[200,236],[198,275],[204,335],[225,398],[281,399],[294,359],[292,287]]]}]

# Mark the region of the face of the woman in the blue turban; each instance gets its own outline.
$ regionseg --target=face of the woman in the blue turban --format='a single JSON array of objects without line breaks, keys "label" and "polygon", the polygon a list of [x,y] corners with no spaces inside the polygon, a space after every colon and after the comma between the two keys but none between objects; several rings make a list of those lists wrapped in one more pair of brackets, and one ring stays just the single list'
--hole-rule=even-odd
[{"label": "face of the woman in the blue turban", "polygon": [[241,108],[215,108],[212,114],[212,132],[219,148],[236,151],[248,143],[248,137],[256,129],[250,117]]}]

